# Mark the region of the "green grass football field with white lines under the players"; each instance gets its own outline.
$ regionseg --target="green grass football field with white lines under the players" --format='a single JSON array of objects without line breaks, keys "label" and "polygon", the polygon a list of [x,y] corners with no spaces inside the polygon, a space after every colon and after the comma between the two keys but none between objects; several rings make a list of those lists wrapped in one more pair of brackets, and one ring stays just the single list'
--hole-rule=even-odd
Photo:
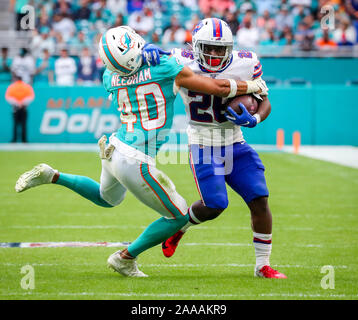
[{"label": "green grass football field with white lines under the players", "polygon": [[[107,269],[115,248],[0,248],[0,299],[357,299],[358,170],[283,154],[262,153],[273,213],[271,264],[288,279],[253,277],[250,215],[229,191],[229,208],[192,228],[176,254],[160,246],[138,262],[148,278]],[[99,179],[96,153],[0,152],[0,242],[132,241],[159,215],[128,194],[116,208],[96,207],[54,185],[16,194],[18,176],[41,162]],[[198,199],[187,165],[159,166],[191,203]],[[35,289],[20,282],[35,270]],[[335,271],[324,290],[321,267]]]}]

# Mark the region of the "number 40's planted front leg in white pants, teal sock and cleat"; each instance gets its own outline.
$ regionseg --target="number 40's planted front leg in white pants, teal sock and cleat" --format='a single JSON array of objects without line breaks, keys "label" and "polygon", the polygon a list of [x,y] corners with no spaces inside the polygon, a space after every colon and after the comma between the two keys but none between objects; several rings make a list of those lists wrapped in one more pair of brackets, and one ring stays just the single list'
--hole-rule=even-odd
[{"label": "number 40's planted front leg in white pants, teal sock and cleat", "polygon": [[127,249],[115,252],[108,259],[109,266],[123,275],[145,276],[136,267],[135,258],[143,251],[160,244],[187,223],[187,204],[176,191],[173,182],[153,165],[126,159],[115,150],[112,170],[138,200],[162,215]]}]

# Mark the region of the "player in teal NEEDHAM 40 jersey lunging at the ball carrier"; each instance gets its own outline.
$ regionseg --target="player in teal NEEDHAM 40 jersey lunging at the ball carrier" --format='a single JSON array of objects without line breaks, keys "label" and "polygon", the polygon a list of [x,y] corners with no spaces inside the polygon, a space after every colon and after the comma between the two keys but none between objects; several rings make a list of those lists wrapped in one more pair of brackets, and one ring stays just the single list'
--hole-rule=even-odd
[{"label": "player in teal NEEDHAM 40 jersey lunging at the ball carrier", "polygon": [[144,40],[131,28],[107,30],[100,40],[99,53],[107,70],[103,84],[120,112],[121,127],[99,140],[102,158],[100,183],[40,164],[18,179],[22,192],[45,183],[65,186],[102,207],[119,205],[129,190],[162,217],[149,225],[127,249],[108,258],[108,265],[124,276],[145,277],[136,257],[162,243],[189,221],[188,206],[172,181],[155,167],[154,157],[165,142],[172,125],[173,103],[180,87],[196,92],[234,97],[261,92],[257,81],[214,80],[195,75],[174,57],[162,57],[153,67],[143,63]]}]

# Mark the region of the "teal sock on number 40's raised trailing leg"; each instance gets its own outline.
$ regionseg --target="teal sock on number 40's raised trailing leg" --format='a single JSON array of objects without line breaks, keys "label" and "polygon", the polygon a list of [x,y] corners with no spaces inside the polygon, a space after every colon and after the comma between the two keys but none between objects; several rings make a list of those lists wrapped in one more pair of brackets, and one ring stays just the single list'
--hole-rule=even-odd
[{"label": "teal sock on number 40's raised trailing leg", "polygon": [[71,189],[98,206],[105,208],[112,207],[112,205],[102,199],[99,191],[100,184],[88,177],[61,172],[55,183]]}]

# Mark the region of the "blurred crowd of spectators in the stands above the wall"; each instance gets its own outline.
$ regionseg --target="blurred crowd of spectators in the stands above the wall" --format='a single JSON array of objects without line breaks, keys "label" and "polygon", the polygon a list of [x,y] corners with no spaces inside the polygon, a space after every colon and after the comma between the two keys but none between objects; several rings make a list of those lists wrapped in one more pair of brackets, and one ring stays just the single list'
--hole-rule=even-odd
[{"label": "blurred crowd of spectators in the stands above the wall", "polygon": [[[31,41],[17,56],[2,48],[0,82],[14,74],[27,83],[99,84],[98,40],[110,27],[129,25],[166,49],[188,46],[203,18],[225,20],[240,49],[259,54],[353,50],[358,43],[358,0],[11,0],[17,30],[24,5],[35,7]],[[334,9],[334,26],[322,17]],[[332,19],[329,21],[332,23]]]}]

